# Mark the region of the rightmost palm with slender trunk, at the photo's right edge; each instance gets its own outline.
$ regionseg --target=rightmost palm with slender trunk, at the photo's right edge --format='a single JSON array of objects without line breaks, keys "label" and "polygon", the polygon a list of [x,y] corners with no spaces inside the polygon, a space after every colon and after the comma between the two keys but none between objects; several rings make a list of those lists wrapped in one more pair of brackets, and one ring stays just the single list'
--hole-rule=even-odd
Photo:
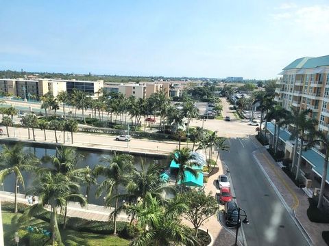
[{"label": "rightmost palm with slender trunk, at the photo's right edge", "polygon": [[[320,185],[320,193],[319,200],[317,202],[317,208],[321,208],[322,201],[324,200],[324,187],[326,187],[326,179],[328,175],[328,159],[329,159],[329,135],[324,134],[321,131],[316,131],[315,133],[310,133],[310,142],[307,144],[306,148],[311,148],[315,146],[315,144],[321,143],[326,150],[326,154],[324,157],[324,171],[322,172],[322,179]],[[316,139],[315,139],[316,138]]]}]

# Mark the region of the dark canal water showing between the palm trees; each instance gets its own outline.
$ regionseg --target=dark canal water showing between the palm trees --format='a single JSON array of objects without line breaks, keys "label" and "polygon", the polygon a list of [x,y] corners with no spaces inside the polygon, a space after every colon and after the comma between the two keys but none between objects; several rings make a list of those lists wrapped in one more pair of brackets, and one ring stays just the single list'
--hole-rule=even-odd
[{"label": "dark canal water showing between the palm trees", "polygon": [[[2,147],[0,146],[0,150],[2,150]],[[51,148],[47,146],[47,148],[44,147],[34,147],[34,146],[25,146],[24,150],[26,152],[31,152],[32,154],[35,154],[39,159],[41,159],[43,156],[53,156],[56,154],[56,148]],[[86,167],[87,165],[93,169],[96,165],[106,165],[106,163],[100,163],[99,159],[101,156],[112,156],[113,154],[109,151],[102,151],[102,152],[97,152],[97,151],[87,151],[87,150],[80,150],[77,149],[77,153],[82,156],[82,159],[79,159],[77,161],[77,168],[81,167]],[[154,160],[158,160],[159,165],[169,165],[169,162],[167,159],[159,159],[156,157],[150,157],[150,156],[138,156],[138,155],[133,155],[134,156],[134,165],[136,166],[137,169],[140,169],[141,167],[141,160],[143,160],[144,164],[147,165],[147,163],[153,163]],[[49,167],[51,164],[49,162],[44,161],[42,163],[43,167]],[[34,173],[29,173],[29,172],[22,172],[23,178],[24,178],[24,183],[25,183],[25,189],[23,189],[23,185],[19,184],[19,192],[20,193],[25,193],[25,190],[28,190],[29,188],[32,187],[32,182],[34,180],[34,177],[36,176]],[[97,178],[97,182],[100,183],[103,181],[103,177]],[[10,174],[10,176],[7,176],[3,180],[3,186],[0,187],[0,189],[4,189],[4,191],[9,191],[9,192],[14,192],[14,174]],[[99,198],[95,197],[95,192],[96,192],[96,186],[92,185],[90,187],[90,193],[88,197],[88,201],[90,204],[98,204],[98,205],[103,205],[103,196],[102,194]],[[123,191],[123,187],[121,187],[121,192]],[[85,194],[86,193],[86,187],[81,187],[81,193]]]}]

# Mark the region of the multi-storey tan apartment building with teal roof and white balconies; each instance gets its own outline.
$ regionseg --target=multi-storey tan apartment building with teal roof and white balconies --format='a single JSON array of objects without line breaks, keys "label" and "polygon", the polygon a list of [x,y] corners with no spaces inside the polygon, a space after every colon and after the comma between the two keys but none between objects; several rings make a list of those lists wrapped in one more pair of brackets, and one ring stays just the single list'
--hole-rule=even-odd
[{"label": "multi-storey tan apartment building with teal roof and white balconies", "polygon": [[329,127],[329,55],[302,57],[283,68],[274,98],[290,110],[312,109],[310,117],[319,121],[319,130]]}]

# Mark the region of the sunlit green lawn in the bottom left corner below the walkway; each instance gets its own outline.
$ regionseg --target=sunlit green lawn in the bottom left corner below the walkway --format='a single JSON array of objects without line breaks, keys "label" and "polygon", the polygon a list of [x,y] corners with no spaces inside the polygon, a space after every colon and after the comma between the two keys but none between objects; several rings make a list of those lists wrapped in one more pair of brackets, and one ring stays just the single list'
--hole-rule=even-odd
[{"label": "sunlit green lawn in the bottom left corner below the walkway", "polygon": [[[19,225],[17,219],[21,214],[2,212],[3,234],[5,245],[14,244],[14,234],[19,229],[25,229],[27,226],[38,226],[49,230],[49,223],[40,219],[32,219],[28,225]],[[90,234],[86,232],[76,232],[74,230],[61,230],[62,241],[64,245],[99,245],[99,246],[125,246],[129,241],[117,236]]]}]

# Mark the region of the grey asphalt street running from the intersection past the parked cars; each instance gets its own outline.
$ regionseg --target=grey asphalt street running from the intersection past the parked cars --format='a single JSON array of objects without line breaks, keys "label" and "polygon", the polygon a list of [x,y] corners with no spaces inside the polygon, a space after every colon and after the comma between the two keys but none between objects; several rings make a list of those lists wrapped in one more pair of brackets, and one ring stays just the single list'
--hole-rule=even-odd
[{"label": "grey asphalt street running from the intersection past the parked cars", "polygon": [[230,152],[221,154],[221,161],[230,169],[236,202],[250,222],[243,225],[247,245],[308,245],[254,160],[254,150],[249,137],[231,138]]}]

